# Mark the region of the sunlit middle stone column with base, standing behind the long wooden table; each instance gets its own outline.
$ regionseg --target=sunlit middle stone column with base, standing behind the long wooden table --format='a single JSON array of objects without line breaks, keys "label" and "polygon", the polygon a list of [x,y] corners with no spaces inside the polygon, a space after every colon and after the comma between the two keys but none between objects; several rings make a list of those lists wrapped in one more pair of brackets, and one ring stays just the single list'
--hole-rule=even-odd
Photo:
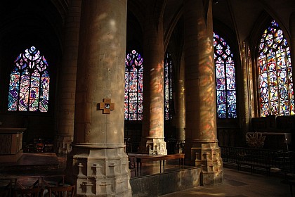
[{"label": "sunlit middle stone column with base, standing behind the long wooden table", "polygon": [[166,155],[164,141],[164,1],[148,1],[143,46],[143,133],[139,152]]}]

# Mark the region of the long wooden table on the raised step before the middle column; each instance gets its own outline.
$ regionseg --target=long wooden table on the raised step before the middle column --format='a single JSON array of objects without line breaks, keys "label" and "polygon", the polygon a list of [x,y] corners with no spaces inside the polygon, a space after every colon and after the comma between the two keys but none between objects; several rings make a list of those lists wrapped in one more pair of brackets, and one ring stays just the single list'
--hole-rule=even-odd
[{"label": "long wooden table on the raised step before the middle column", "polygon": [[162,173],[162,161],[163,161],[163,172],[165,171],[165,160],[174,160],[179,159],[179,166],[182,165],[184,167],[184,160],[185,160],[185,154],[184,153],[178,153],[178,154],[171,154],[171,155],[134,155],[136,158],[137,163],[137,173],[140,169],[140,175],[142,174],[142,163],[145,162],[152,162],[159,160],[160,162],[160,173]]}]

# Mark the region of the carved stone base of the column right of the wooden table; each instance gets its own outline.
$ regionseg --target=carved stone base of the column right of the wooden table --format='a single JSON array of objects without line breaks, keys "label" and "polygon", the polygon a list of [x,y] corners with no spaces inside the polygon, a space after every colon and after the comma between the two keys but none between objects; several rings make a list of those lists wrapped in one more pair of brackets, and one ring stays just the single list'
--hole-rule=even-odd
[{"label": "carved stone base of the column right of the wooden table", "polygon": [[201,186],[214,186],[223,183],[223,161],[217,142],[192,142],[191,155],[195,166],[201,167]]}]

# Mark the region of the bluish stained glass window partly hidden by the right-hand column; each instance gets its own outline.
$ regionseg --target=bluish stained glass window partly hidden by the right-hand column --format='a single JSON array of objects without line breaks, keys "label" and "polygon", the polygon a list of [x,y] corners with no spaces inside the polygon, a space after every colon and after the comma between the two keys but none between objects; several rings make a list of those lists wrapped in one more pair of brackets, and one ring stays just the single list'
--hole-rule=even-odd
[{"label": "bluish stained glass window partly hidden by the right-hand column", "polygon": [[218,34],[213,33],[216,69],[216,108],[218,118],[237,117],[235,62],[230,46]]}]

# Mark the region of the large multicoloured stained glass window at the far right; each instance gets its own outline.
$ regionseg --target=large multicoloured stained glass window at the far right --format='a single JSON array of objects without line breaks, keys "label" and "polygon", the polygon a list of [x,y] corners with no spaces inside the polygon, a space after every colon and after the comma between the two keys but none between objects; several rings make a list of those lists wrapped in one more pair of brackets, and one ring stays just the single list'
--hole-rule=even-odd
[{"label": "large multicoloured stained glass window at the far right", "polygon": [[275,20],[263,32],[258,47],[260,115],[294,115],[291,54]]}]

